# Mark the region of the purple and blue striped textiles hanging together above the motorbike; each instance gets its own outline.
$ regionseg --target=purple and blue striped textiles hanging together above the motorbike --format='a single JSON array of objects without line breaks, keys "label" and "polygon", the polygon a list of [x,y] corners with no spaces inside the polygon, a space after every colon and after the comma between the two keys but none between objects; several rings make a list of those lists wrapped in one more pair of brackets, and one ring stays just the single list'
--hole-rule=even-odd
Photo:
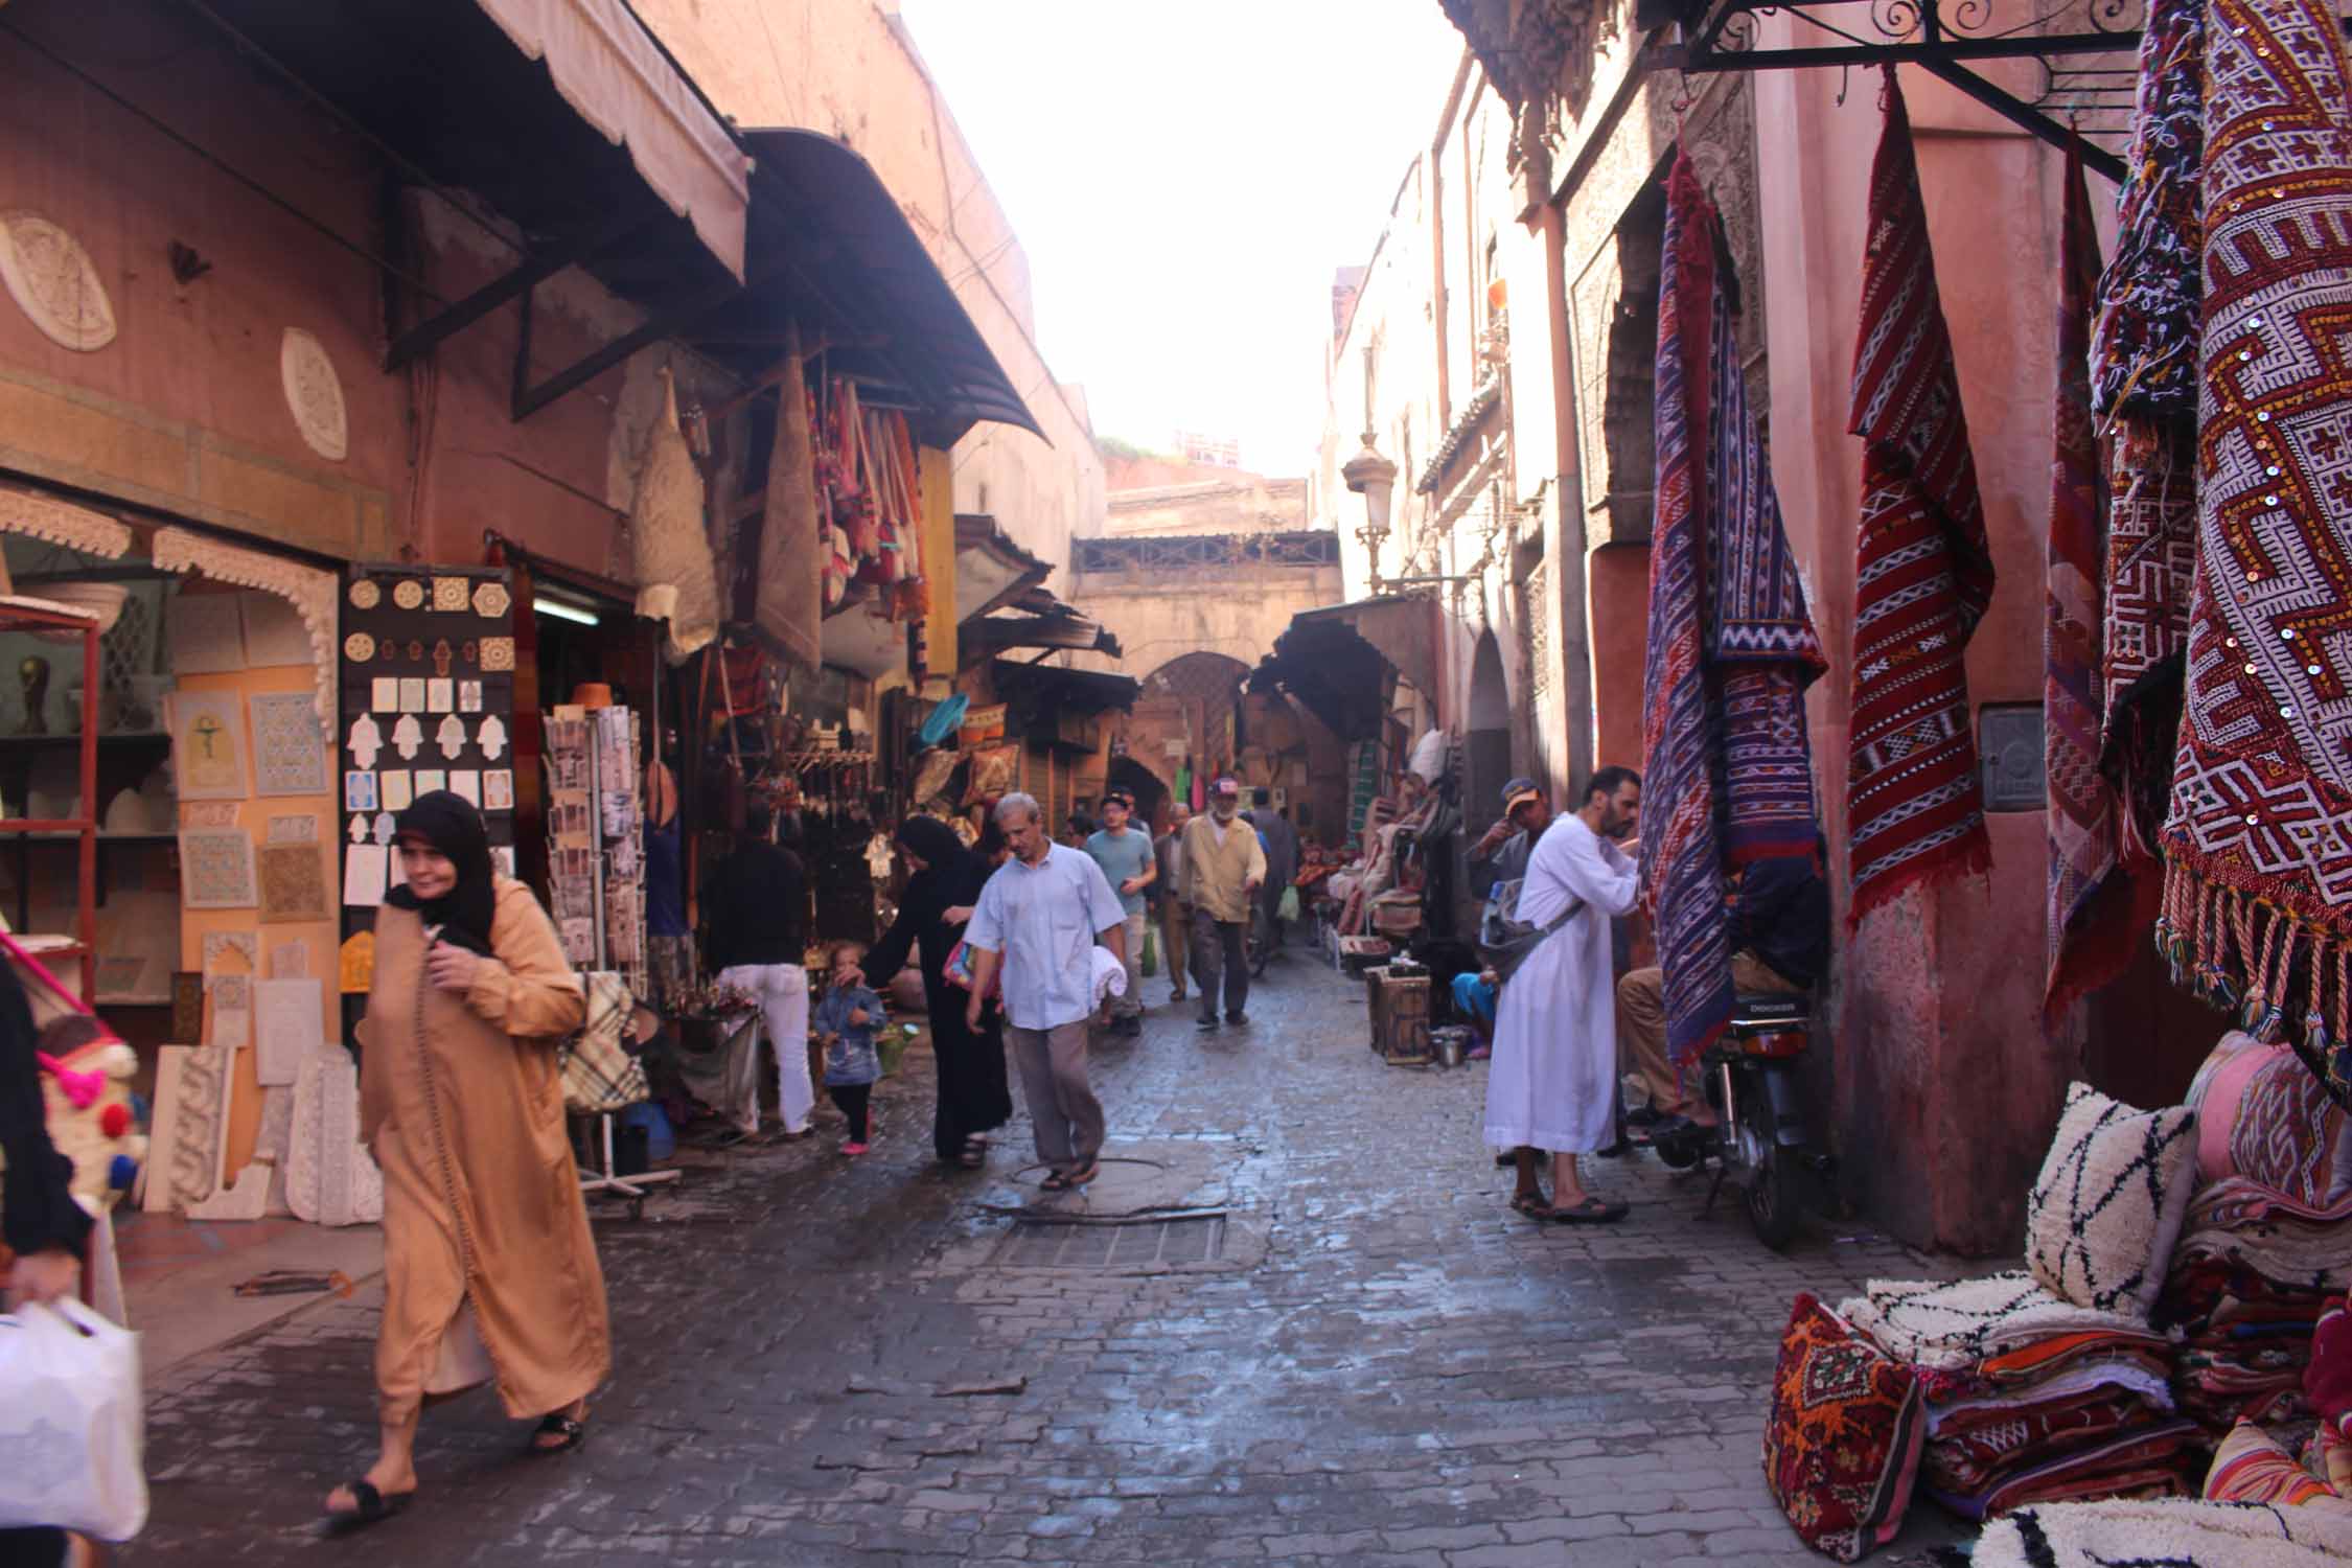
[{"label": "purple and blue striped textiles hanging together above the motorbike", "polygon": [[1731,261],[1682,153],[1658,292],[1658,520],[1651,536],[1642,780],[1665,1044],[1691,1060],[1731,1020],[1724,872],[1811,856],[1804,689],[1823,670],[1733,331]]}]

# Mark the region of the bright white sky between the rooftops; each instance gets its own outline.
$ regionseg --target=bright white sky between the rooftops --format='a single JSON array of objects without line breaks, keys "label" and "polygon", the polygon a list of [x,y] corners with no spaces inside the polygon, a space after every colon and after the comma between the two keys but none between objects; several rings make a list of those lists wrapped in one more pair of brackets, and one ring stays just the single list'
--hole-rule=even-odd
[{"label": "bright white sky between the rooftops", "polygon": [[1096,435],[1232,435],[1305,473],[1331,273],[1362,263],[1461,63],[1437,0],[901,0],[1021,233]]}]

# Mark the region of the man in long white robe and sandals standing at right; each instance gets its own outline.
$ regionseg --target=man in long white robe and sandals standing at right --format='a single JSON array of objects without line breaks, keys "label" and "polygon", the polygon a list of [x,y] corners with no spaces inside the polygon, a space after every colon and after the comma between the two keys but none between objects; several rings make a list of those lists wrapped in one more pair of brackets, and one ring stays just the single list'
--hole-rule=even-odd
[{"label": "man in long white robe and sandals standing at right", "polygon": [[[1515,1150],[1519,1187],[1510,1206],[1531,1220],[1606,1225],[1625,1204],[1585,1192],[1576,1157],[1616,1138],[1616,985],[1609,922],[1635,905],[1642,776],[1599,769],[1583,806],[1536,842],[1515,919],[1545,931],[1503,985],[1486,1072],[1486,1143]],[[1501,891],[1501,889],[1498,889]],[[1552,1197],[1536,1178],[1536,1150],[1552,1152]]]}]

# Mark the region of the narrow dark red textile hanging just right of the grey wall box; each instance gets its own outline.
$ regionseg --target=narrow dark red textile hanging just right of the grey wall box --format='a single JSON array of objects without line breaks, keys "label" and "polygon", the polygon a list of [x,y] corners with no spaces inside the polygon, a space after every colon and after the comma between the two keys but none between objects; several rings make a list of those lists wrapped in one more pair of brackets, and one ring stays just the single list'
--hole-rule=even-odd
[{"label": "narrow dark red textile hanging just right of the grey wall box", "polygon": [[[2042,773],[2049,788],[2049,969],[2042,1020],[2053,1025],[2086,990],[2119,976],[2138,929],[2117,907],[2131,896],[2117,863],[2114,788],[2098,771],[2100,588],[2107,505],[2091,433],[2091,294],[2098,228],[2082,179],[2082,141],[2067,143],[2058,280],[2058,437],[2051,454],[2049,576],[2042,628]],[[2154,879],[2147,879],[2150,893]]]}]

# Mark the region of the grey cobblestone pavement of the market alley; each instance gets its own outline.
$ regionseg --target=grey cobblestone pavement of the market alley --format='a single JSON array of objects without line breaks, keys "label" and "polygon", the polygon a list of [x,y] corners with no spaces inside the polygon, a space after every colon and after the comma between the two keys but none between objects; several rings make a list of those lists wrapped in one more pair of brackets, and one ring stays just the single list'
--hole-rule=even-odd
[{"label": "grey cobblestone pavement of the market alley", "polygon": [[[1853,1222],[1771,1255],[1646,1154],[1599,1166],[1628,1222],[1534,1225],[1479,1147],[1484,1067],[1381,1065],[1355,983],[1287,957],[1254,1027],[1214,1037],[1145,987],[1143,1037],[1096,1056],[1110,1154],[1138,1164],[1089,1201],[1223,1208],[1221,1260],[993,1262],[1002,1208],[1044,1201],[1025,1124],[985,1173],[936,1171],[917,1058],[863,1161],[835,1133],[734,1152],[640,1222],[600,1218],[619,1371],[581,1453],[522,1458],[468,1394],[426,1418],[414,1509],[320,1540],[374,1443],[362,1293],[169,1375],[125,1556],[1818,1561],[1757,1465],[1790,1298],[1950,1265]],[[1900,1549],[1955,1537],[1922,1505]]]}]

